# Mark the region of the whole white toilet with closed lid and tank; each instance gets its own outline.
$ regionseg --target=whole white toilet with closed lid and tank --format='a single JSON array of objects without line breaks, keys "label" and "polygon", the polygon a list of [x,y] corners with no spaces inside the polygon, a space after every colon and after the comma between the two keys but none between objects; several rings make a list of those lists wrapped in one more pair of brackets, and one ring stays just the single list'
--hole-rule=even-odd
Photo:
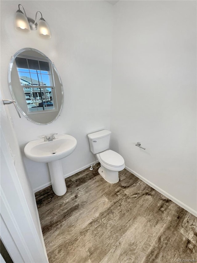
[{"label": "whole white toilet with closed lid and tank", "polygon": [[118,183],[118,172],[125,168],[123,157],[109,148],[111,131],[102,130],[88,134],[90,150],[96,154],[101,167],[98,169],[99,174],[108,183]]}]

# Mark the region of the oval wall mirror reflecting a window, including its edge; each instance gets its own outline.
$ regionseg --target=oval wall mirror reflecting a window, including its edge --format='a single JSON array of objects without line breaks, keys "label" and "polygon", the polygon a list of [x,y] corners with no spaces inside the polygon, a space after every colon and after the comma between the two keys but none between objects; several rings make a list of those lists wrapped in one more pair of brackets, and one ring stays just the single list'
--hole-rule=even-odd
[{"label": "oval wall mirror reflecting a window, including its edge", "polygon": [[60,115],[62,81],[50,59],[34,48],[23,48],[12,57],[8,84],[13,100],[30,121],[46,125]]}]

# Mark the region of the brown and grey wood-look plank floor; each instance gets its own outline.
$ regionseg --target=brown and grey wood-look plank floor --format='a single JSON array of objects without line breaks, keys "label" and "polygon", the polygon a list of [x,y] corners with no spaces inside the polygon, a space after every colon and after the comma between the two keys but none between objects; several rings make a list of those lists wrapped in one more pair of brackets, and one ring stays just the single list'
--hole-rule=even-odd
[{"label": "brown and grey wood-look plank floor", "polygon": [[50,263],[197,261],[197,218],[127,170],[107,183],[99,164],[35,194]]}]

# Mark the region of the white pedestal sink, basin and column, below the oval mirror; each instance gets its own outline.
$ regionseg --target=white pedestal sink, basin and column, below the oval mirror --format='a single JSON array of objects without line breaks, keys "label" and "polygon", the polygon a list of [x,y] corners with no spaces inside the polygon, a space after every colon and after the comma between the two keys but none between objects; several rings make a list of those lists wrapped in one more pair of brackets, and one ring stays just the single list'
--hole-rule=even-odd
[{"label": "white pedestal sink, basin and column, below the oval mirror", "polygon": [[35,162],[48,162],[52,188],[56,195],[66,193],[61,159],[70,155],[76,146],[77,140],[68,134],[57,135],[53,141],[44,142],[43,139],[38,139],[25,146],[27,158]]}]

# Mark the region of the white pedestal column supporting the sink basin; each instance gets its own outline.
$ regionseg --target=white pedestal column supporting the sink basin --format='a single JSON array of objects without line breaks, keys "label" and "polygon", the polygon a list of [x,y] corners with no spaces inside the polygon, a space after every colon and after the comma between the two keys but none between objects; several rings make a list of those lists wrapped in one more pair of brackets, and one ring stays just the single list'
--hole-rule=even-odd
[{"label": "white pedestal column supporting the sink basin", "polygon": [[48,162],[50,179],[53,191],[56,195],[64,195],[66,193],[66,183],[62,171],[61,160]]}]

